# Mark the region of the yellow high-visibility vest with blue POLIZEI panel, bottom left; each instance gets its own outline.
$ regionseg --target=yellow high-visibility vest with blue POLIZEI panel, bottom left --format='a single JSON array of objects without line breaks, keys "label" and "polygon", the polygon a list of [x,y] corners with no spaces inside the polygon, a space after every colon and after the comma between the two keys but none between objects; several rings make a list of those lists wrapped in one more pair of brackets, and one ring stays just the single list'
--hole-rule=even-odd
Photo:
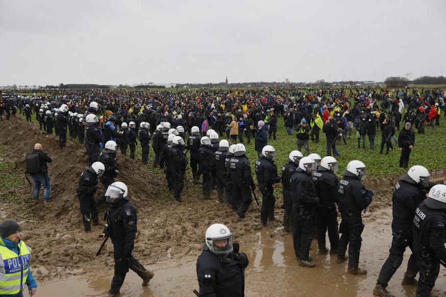
[{"label": "yellow high-visibility vest with blue POLIZEI panel, bottom left", "polygon": [[18,248],[19,255],[0,245],[0,294],[17,294],[26,284],[31,249],[21,240]]}]

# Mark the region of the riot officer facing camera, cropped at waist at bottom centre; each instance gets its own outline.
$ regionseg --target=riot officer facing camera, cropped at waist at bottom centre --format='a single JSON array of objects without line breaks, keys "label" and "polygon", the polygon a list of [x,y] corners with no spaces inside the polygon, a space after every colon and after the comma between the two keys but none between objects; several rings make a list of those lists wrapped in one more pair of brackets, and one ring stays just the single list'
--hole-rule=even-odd
[{"label": "riot officer facing camera, cropped at waist at bottom centre", "polygon": [[223,224],[213,224],[206,230],[205,242],[197,259],[199,295],[244,296],[249,261],[239,253],[239,244],[232,243],[232,233]]}]

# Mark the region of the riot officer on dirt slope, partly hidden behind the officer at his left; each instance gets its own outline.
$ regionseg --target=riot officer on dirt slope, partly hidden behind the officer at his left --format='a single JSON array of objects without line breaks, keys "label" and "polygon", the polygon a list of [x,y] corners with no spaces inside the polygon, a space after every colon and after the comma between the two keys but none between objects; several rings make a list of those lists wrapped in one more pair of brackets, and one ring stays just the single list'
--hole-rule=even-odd
[{"label": "riot officer on dirt slope, partly hidden behind the officer at his left", "polygon": [[[102,154],[99,156],[98,161],[104,164],[105,171],[99,180],[101,181],[104,188],[107,189],[109,185],[114,183],[114,178],[118,176],[119,170],[118,165],[116,164],[116,148],[118,145],[113,140],[107,141],[104,146],[104,150],[102,150]],[[105,194],[98,196],[96,199],[96,203],[101,205],[105,202]]]}]

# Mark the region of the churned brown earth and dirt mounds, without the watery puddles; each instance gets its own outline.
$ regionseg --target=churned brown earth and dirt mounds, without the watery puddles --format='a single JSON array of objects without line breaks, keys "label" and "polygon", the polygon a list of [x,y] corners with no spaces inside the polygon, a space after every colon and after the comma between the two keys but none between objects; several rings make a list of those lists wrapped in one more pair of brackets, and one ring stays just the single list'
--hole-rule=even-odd
[{"label": "churned brown earth and dirt mounds, without the watery puddles", "polygon": [[[8,189],[11,196],[22,198],[16,201],[6,199],[0,207],[0,215],[20,221],[22,238],[33,249],[32,264],[39,279],[71,275],[77,268],[112,265],[111,242],[107,242],[100,257],[95,256],[101,244],[98,235],[103,226],[93,226],[91,233],[83,232],[79,203],[74,195],[88,160],[84,147],[78,141],[68,138],[67,146],[59,150],[57,137],[46,135],[33,123],[15,117],[3,120],[0,122],[0,144],[7,145],[6,160],[14,166],[3,171],[0,169],[0,173],[22,175],[25,156],[36,142],[41,143],[43,151],[53,159],[49,164],[51,203],[43,205],[40,198],[35,204],[31,201],[32,186],[22,182]],[[152,151],[149,158],[153,159]],[[247,220],[239,222],[230,208],[216,200],[201,199],[201,186],[193,184],[190,171],[187,171],[182,193],[184,202],[175,205],[165,179],[147,170],[159,168],[146,168],[121,154],[118,154],[118,165],[121,174],[116,180],[127,184],[131,201],[138,211],[138,234],[133,254],[145,264],[198,255],[206,228],[215,222],[227,225],[241,243],[255,240],[253,235],[261,229],[260,209],[255,202],[247,213]],[[444,176],[445,172],[440,170],[435,175]],[[366,186],[375,191],[371,213],[391,204],[397,178],[399,176],[395,175],[366,182]],[[101,187],[99,191],[104,190]],[[216,199],[215,194],[213,198]],[[280,201],[281,195],[277,197],[276,220],[270,224],[272,229],[282,226]],[[105,206],[99,210],[102,217]],[[288,236],[282,232],[279,234]]]}]

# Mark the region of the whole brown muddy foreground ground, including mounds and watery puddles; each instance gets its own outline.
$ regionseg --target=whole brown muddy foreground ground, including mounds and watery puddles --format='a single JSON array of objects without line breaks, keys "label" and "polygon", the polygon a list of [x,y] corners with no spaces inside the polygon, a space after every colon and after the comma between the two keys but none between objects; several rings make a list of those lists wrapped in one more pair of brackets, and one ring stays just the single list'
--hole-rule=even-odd
[{"label": "whole brown muddy foreground ground, including mounds and watery puddles", "polygon": [[[112,277],[112,245],[107,242],[102,254],[95,256],[103,226],[92,226],[91,233],[83,232],[79,203],[74,197],[79,176],[88,163],[87,156],[78,141],[68,138],[63,150],[58,149],[57,141],[33,123],[14,117],[0,122],[0,145],[6,145],[7,151],[0,161],[14,164],[8,172],[0,173],[23,177],[25,156],[36,142],[53,158],[49,164],[51,203],[43,205],[43,189],[39,202],[34,203],[32,186],[20,183],[9,188],[6,194],[21,198],[4,199],[0,216],[2,220],[19,221],[22,239],[33,249],[31,268],[39,285],[38,296],[101,296],[108,290]],[[255,202],[247,213],[247,220],[239,222],[235,213],[217,201],[216,194],[213,200],[202,200],[201,186],[192,183],[191,172],[187,171],[184,202],[175,205],[165,179],[135,160],[120,154],[118,159],[121,174],[116,180],[127,184],[138,211],[133,255],[155,270],[155,277],[147,288],[140,286],[140,280],[130,271],[121,290],[123,296],[193,296],[192,290],[198,289],[195,261],[206,228],[215,222],[227,225],[234,240],[241,243],[241,250],[248,254],[251,263],[246,270],[247,296],[306,296],[319,292],[371,295],[391,242],[391,193],[399,175],[365,182],[367,188],[375,191],[364,219],[360,258],[360,264],[369,272],[367,276],[354,277],[346,275],[345,263],[335,264],[335,255],[316,255],[315,241],[310,254],[318,266],[313,269],[297,266],[291,235],[281,228],[283,211],[278,208],[281,197],[277,197],[276,221],[268,228],[261,228],[260,208]],[[444,176],[446,170],[432,172],[433,179]],[[102,206],[100,217],[104,210]],[[413,295],[413,287],[401,285],[403,266],[391,280],[389,290],[398,296]],[[444,270],[441,270],[436,286],[440,295],[446,292],[446,284],[441,284],[444,279]]]}]

